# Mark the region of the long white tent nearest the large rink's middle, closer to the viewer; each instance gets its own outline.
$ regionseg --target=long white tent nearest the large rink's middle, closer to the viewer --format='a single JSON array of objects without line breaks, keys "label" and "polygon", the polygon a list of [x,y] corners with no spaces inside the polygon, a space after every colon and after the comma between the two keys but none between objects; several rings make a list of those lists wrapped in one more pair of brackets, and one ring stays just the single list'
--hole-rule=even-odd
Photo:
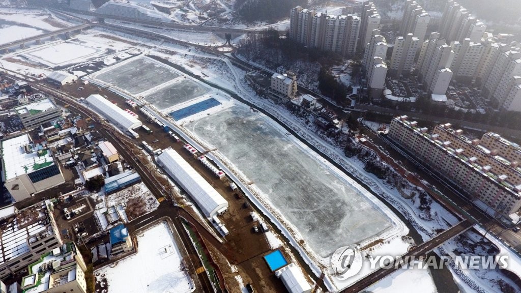
[{"label": "long white tent nearest the large rink's middle, closer to the viewer", "polygon": [[228,202],[175,150],[168,148],[157,162],[199,205],[207,217],[228,209]]}]

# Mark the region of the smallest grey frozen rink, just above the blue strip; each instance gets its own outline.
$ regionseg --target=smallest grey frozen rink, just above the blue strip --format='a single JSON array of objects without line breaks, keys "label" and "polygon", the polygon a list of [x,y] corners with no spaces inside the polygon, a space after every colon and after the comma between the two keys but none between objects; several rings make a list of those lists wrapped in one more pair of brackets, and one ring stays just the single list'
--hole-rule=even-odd
[{"label": "smallest grey frozen rink, just above the blue strip", "polygon": [[147,94],[145,100],[157,109],[164,110],[173,105],[188,102],[195,97],[206,94],[209,90],[190,79],[181,79],[169,86]]}]

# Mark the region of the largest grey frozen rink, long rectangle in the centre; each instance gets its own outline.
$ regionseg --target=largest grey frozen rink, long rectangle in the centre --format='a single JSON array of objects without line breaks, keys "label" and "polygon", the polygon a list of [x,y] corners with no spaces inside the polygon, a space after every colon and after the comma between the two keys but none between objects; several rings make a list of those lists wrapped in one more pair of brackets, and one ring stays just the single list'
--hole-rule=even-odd
[{"label": "largest grey frozen rink, long rectangle in the centre", "polygon": [[355,188],[268,119],[238,105],[185,127],[252,180],[322,258],[393,226],[362,194],[367,191]]}]

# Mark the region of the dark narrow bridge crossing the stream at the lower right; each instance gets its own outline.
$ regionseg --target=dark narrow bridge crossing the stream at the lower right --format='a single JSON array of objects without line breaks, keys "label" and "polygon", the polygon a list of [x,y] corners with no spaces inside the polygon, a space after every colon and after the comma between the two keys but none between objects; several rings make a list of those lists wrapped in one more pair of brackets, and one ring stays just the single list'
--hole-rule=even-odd
[{"label": "dark narrow bridge crossing the stream at the lower right", "polygon": [[[402,260],[400,260],[400,262],[397,265],[393,264],[390,268],[379,268],[378,270],[365,276],[355,284],[343,290],[342,293],[356,293],[366,289],[367,287],[375,284],[384,277],[387,277],[393,272],[400,270],[401,267],[407,265],[409,262],[411,262],[411,260],[422,255],[426,255],[433,249],[436,249],[437,247],[442,245],[445,241],[448,241],[449,239],[464,233],[466,230],[472,228],[473,225],[474,224],[472,222],[466,219],[452,226],[450,229],[443,231],[434,238],[424,243],[421,243],[421,245],[405,253],[403,255]],[[391,266],[391,264],[389,264],[389,266]]]}]

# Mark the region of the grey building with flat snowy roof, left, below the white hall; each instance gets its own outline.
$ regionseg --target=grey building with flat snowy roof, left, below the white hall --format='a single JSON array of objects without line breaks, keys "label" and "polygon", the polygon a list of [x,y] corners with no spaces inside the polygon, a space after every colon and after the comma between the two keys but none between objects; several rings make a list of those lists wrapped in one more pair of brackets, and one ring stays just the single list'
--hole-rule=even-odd
[{"label": "grey building with flat snowy roof, left, below the white hall", "polygon": [[15,108],[16,114],[22,120],[23,127],[30,129],[61,116],[60,108],[49,99],[42,99]]}]

